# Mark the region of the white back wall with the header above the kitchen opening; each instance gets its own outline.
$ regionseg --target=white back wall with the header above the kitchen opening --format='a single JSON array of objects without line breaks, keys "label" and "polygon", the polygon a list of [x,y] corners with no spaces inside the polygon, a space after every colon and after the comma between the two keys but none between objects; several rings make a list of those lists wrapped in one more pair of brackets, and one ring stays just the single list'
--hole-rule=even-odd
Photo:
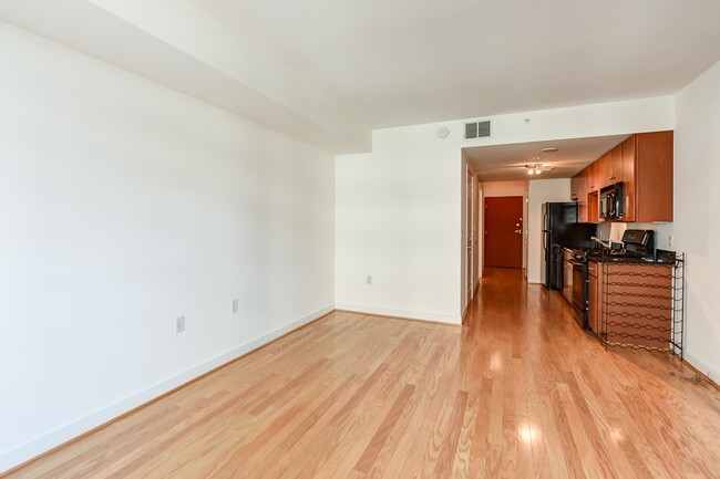
[{"label": "white back wall with the header above the kitchen opening", "polygon": [[[464,277],[462,148],[672,129],[675,100],[666,96],[488,119],[488,138],[463,139],[464,121],[388,128],[373,133],[371,153],[337,157],[338,308],[459,323]],[[441,126],[450,129],[444,139],[436,135]],[[569,183],[567,188],[569,197]],[[539,267],[534,268],[537,274]],[[372,284],[366,283],[368,274]]]}]

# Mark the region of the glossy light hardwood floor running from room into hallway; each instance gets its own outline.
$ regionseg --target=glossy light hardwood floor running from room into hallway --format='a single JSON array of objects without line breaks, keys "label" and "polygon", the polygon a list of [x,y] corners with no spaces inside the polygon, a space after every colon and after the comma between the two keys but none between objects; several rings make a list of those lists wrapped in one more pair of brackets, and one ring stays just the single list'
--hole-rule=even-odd
[{"label": "glossy light hardwood floor running from room into hallway", "polygon": [[10,477],[720,477],[718,389],[520,271],[465,327],[335,312]]}]

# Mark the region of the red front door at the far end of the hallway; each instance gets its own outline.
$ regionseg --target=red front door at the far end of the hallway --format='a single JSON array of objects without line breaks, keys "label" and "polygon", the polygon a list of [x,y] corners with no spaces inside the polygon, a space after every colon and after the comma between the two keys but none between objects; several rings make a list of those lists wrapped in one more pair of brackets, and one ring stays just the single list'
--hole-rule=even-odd
[{"label": "red front door at the far end of the hallway", "polygon": [[485,265],[523,267],[523,197],[485,198]]}]

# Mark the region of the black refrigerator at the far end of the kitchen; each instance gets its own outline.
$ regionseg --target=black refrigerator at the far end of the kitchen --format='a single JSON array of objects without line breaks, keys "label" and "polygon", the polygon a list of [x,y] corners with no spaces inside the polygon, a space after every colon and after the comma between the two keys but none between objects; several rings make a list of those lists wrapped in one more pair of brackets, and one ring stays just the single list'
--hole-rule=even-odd
[{"label": "black refrigerator at the far end of the kitchen", "polygon": [[[593,248],[590,237],[596,236],[597,225],[577,222],[576,202],[543,204],[543,251],[541,279],[545,288],[563,288],[562,249]],[[558,258],[559,254],[559,258]]]}]

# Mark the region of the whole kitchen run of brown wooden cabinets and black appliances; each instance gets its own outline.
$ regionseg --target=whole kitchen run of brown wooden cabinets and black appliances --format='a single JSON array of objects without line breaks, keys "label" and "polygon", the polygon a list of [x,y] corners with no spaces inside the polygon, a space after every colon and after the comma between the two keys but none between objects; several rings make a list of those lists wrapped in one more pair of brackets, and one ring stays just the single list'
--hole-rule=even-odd
[{"label": "whole kitchen run of brown wooden cabinets and black appliances", "polygon": [[672,221],[672,132],[630,135],[570,191],[542,206],[544,287],[606,347],[682,355],[683,259],[652,229]]}]

